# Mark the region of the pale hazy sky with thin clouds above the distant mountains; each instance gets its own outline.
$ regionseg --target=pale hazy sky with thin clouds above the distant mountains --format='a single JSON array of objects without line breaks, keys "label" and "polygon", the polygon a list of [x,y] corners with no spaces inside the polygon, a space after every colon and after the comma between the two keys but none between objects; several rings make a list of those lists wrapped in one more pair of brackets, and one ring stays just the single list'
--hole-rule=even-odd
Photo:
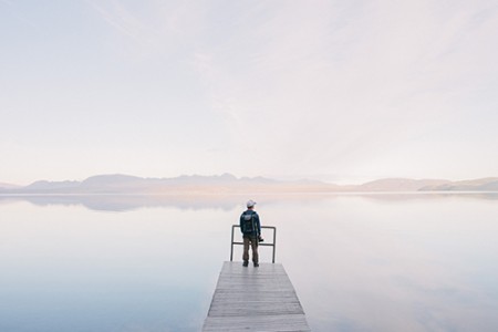
[{"label": "pale hazy sky with thin clouds above the distant mountains", "polygon": [[0,0],[0,183],[498,176],[498,1]]}]

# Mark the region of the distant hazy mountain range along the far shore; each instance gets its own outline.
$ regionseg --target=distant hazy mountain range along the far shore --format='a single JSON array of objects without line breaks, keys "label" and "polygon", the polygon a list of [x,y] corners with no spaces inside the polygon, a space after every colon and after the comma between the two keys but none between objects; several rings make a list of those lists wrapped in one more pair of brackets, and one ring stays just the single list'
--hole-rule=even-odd
[{"label": "distant hazy mountain range along the far shore", "polygon": [[143,178],[96,175],[82,181],[39,180],[29,186],[0,183],[0,194],[237,194],[237,193],[367,193],[367,191],[498,191],[498,177],[450,181],[445,179],[385,178],[362,185],[334,185],[318,180],[282,181],[264,177],[179,176]]}]

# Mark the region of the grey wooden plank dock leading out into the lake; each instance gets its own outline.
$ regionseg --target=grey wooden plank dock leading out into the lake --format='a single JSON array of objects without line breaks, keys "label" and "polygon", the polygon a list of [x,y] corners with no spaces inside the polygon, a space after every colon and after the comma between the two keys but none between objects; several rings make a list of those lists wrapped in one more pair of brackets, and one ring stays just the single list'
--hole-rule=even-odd
[{"label": "grey wooden plank dock leading out into the lake", "polygon": [[204,332],[311,331],[282,264],[224,263]]}]

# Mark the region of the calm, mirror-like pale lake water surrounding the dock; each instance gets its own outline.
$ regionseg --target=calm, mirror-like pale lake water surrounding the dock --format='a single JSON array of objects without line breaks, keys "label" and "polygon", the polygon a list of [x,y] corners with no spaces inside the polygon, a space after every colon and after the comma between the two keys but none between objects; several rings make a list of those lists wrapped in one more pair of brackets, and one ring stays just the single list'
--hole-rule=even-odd
[{"label": "calm, mirror-like pale lake water surrounding the dock", "polygon": [[[0,331],[199,331],[247,198],[0,197]],[[313,331],[498,331],[498,195],[251,198]]]}]

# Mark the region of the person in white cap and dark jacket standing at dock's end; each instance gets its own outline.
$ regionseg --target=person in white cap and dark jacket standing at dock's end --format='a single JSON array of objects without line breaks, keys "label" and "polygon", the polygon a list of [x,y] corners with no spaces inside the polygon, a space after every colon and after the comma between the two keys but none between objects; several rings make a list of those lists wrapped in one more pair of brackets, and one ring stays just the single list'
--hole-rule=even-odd
[{"label": "person in white cap and dark jacket standing at dock's end", "polygon": [[255,267],[259,267],[259,256],[258,256],[258,242],[261,236],[261,225],[259,222],[259,216],[255,211],[256,201],[249,200],[247,203],[247,210],[240,216],[240,231],[243,236],[243,266],[249,264],[249,245],[252,248],[252,262]]}]

